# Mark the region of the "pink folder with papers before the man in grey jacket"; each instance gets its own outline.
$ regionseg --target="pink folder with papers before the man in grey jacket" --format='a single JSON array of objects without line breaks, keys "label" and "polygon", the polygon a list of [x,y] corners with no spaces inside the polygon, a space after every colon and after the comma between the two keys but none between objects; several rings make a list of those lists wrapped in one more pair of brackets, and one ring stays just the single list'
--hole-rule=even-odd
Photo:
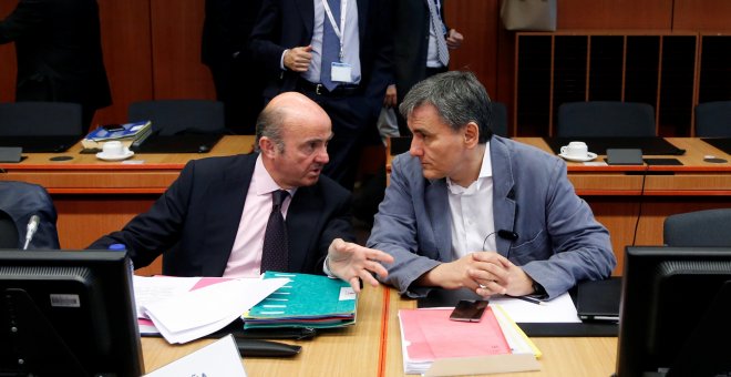
[{"label": "pink folder with papers before the man in grey jacket", "polygon": [[449,375],[539,368],[538,349],[504,313],[496,316],[490,306],[476,323],[450,320],[451,313],[399,310],[404,373],[424,374],[442,361],[440,368]]}]

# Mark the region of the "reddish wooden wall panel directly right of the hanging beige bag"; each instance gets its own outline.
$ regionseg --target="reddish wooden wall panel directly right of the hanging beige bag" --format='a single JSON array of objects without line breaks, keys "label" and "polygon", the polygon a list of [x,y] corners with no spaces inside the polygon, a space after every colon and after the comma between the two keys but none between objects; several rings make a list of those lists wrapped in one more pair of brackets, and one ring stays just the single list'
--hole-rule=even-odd
[{"label": "reddish wooden wall panel directly right of the hanging beige bag", "polygon": [[672,27],[673,0],[557,0],[557,2],[559,30],[670,30]]}]

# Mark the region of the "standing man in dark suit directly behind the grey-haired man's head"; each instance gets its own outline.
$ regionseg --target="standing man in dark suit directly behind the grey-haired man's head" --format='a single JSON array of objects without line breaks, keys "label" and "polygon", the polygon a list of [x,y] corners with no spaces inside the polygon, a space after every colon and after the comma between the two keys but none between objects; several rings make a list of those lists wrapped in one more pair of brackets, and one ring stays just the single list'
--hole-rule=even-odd
[{"label": "standing man in dark suit directly behind the grey-haired man's head", "polygon": [[[393,0],[393,40],[399,48],[394,51],[393,63],[395,93],[393,86],[390,86],[391,98],[387,98],[387,104],[397,106],[419,81],[446,72],[449,51],[442,50],[445,55],[440,57],[439,44],[444,43],[442,45],[446,49],[456,49],[464,38],[456,30],[446,27],[444,0]],[[432,18],[432,12],[439,16]],[[411,135],[405,120],[398,111],[397,116],[399,133]]]}]

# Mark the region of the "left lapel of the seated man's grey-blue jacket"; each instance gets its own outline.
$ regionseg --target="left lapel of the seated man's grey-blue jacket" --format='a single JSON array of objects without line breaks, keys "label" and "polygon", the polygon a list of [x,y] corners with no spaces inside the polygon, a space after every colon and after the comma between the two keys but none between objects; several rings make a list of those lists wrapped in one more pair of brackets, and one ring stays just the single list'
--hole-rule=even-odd
[{"label": "left lapel of the seated man's grey-blue jacket", "polygon": [[452,227],[450,216],[446,181],[437,180],[426,183],[424,202],[432,224],[434,244],[440,254],[440,261],[452,261]]}]

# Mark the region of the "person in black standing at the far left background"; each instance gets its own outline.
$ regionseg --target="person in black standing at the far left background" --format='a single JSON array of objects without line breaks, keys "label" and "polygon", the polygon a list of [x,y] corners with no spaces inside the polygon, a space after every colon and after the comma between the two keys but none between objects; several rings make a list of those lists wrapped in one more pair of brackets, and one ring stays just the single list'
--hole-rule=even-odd
[{"label": "person in black standing at the far left background", "polygon": [[20,0],[0,21],[0,43],[13,41],[16,101],[80,103],[85,128],[112,103],[96,0]]}]

